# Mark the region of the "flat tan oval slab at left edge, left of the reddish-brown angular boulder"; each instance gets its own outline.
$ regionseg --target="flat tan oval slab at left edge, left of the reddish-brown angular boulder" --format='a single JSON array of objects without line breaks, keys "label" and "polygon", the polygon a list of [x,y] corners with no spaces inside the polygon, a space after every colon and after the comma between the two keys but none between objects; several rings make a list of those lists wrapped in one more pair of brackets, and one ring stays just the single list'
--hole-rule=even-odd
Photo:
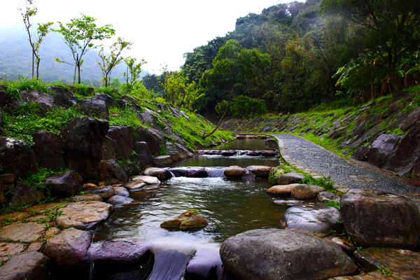
[{"label": "flat tan oval slab at left edge, left of the reddish-brown angular boulder", "polygon": [[15,223],[0,228],[0,238],[18,242],[34,242],[45,232],[45,223]]}]

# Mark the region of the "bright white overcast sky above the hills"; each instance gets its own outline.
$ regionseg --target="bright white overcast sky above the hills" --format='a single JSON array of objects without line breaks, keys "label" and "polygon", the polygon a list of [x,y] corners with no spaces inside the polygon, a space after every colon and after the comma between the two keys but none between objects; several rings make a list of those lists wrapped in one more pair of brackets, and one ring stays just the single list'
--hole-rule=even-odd
[{"label": "bright white overcast sky above the hills", "polygon": [[[235,29],[237,18],[248,13],[261,13],[263,8],[287,3],[286,0],[36,0],[38,13],[34,22],[61,21],[80,18],[80,13],[97,18],[97,26],[113,25],[116,36],[134,43],[130,55],[137,61],[145,59],[144,69],[160,73],[179,69],[183,54],[206,45],[216,36],[225,36]],[[22,0],[4,0],[1,3],[0,27],[22,22],[18,8]],[[22,28],[24,28],[22,22]],[[42,48],[42,45],[41,45]]]}]

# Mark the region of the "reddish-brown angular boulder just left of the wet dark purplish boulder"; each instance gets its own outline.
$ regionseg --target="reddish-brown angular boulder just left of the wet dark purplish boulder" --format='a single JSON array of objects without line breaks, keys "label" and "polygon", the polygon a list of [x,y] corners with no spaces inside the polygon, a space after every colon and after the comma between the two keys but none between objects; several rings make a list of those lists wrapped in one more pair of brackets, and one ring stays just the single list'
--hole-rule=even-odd
[{"label": "reddish-brown angular boulder just left of the wet dark purplish boulder", "polygon": [[90,267],[87,250],[92,243],[92,233],[76,228],[63,230],[45,242],[43,253],[60,269],[68,272],[83,272]]}]

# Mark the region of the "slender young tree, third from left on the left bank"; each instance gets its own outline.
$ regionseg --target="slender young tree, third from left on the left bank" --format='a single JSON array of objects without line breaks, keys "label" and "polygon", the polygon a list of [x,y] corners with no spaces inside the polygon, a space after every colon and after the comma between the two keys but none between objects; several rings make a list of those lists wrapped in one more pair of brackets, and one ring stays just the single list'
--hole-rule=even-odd
[{"label": "slender young tree, third from left on the left bank", "polygon": [[123,38],[118,37],[117,41],[109,46],[111,49],[111,53],[109,55],[105,55],[103,47],[99,50],[98,56],[102,61],[98,62],[98,64],[101,67],[102,74],[104,75],[105,87],[108,87],[108,83],[110,81],[109,74],[111,73],[111,70],[123,61],[123,52],[130,50],[130,45],[132,44],[133,43],[124,41]]}]

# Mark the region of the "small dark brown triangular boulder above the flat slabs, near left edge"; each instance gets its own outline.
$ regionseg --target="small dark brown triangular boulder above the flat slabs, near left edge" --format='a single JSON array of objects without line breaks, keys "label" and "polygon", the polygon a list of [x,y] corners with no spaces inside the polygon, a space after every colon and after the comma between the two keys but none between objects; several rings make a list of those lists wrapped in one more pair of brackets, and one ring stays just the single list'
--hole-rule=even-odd
[{"label": "small dark brown triangular boulder above the flat slabs, near left edge", "polygon": [[16,181],[10,204],[13,207],[21,207],[42,202],[45,200],[45,197],[45,193],[41,192],[41,190],[36,190],[21,181]]}]

